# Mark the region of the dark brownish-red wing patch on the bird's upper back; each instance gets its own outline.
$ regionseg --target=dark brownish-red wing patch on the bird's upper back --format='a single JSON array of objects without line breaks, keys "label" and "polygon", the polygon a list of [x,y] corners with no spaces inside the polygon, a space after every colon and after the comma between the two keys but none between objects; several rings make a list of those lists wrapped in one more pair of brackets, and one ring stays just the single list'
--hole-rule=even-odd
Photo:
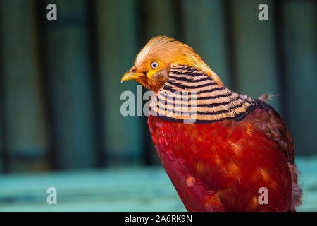
[{"label": "dark brownish-red wing patch on the bird's upper back", "polygon": [[[266,104],[265,104],[266,105]],[[290,130],[287,128],[280,114],[273,107],[266,105],[267,109],[255,109],[246,119],[254,127],[275,141],[282,153],[287,157],[287,162],[294,164],[294,142]]]}]

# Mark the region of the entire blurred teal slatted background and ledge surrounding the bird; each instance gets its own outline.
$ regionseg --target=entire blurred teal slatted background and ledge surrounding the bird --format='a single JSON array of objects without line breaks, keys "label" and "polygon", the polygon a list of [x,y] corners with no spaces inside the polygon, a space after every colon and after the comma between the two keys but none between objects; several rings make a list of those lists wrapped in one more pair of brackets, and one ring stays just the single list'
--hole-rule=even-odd
[{"label": "entire blurred teal slatted background and ledge surrounding the bird", "polygon": [[[57,6],[57,21],[46,6]],[[258,6],[268,4],[268,21]],[[292,132],[304,205],[317,210],[316,1],[0,0],[0,211],[182,211],[120,84],[156,35],[189,44],[228,88]],[[146,91],[145,88],[143,91]],[[56,187],[58,205],[46,204]]]}]

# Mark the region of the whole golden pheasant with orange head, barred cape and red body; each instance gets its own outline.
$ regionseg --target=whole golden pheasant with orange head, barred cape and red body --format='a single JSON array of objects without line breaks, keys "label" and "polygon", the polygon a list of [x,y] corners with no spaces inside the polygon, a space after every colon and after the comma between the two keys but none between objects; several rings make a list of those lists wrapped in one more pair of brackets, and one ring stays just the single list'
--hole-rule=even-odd
[{"label": "whole golden pheasant with orange head, barred cape and red body", "polygon": [[225,88],[191,47],[152,38],[121,82],[131,79],[154,91],[151,138],[187,210],[294,211],[301,203],[292,135],[278,112]]}]

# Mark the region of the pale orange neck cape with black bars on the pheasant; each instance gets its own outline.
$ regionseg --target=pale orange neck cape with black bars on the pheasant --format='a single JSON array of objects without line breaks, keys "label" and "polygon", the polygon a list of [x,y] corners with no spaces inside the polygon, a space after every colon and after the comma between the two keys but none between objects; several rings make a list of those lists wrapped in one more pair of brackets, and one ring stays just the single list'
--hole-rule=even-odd
[{"label": "pale orange neck cape with black bars on the pheasant", "polygon": [[206,124],[223,119],[240,121],[268,105],[218,85],[192,66],[175,64],[166,83],[152,96],[150,108],[152,115],[166,121]]}]

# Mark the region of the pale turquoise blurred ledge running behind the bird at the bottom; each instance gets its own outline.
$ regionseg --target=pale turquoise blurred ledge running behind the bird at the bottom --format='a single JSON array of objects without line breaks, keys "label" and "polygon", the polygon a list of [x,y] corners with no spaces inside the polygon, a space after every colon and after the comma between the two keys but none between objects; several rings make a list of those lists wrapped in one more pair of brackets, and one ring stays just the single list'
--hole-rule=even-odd
[{"label": "pale turquoise blurred ledge running behind the bird at the bottom", "polygon": [[[317,157],[297,158],[304,204],[317,211]],[[57,189],[57,205],[46,189]],[[186,211],[162,167],[0,176],[0,211]]]}]

